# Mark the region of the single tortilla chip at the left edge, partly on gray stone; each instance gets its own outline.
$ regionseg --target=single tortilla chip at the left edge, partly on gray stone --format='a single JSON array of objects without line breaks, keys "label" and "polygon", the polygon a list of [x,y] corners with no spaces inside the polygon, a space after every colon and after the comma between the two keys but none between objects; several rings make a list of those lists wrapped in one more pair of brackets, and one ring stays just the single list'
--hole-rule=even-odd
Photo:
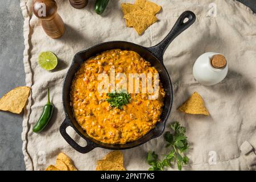
[{"label": "single tortilla chip at the left edge, partly on gray stone", "polygon": [[20,114],[26,105],[29,94],[28,86],[20,86],[11,90],[0,99],[0,110]]}]

